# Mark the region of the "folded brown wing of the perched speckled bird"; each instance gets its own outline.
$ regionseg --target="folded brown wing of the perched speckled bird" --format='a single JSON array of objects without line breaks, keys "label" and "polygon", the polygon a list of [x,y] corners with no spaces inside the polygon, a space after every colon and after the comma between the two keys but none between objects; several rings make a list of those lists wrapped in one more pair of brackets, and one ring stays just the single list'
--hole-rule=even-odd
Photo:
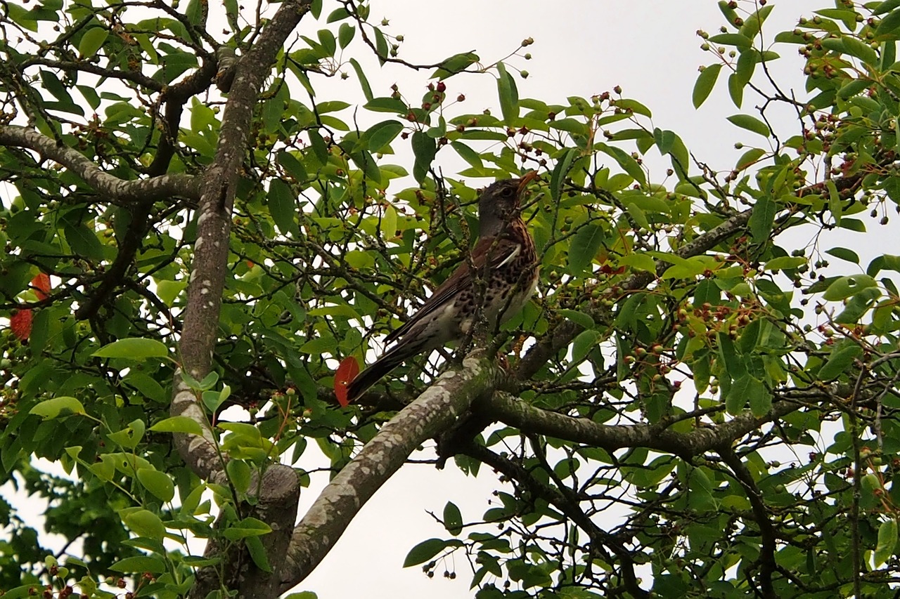
[{"label": "folded brown wing of the perched speckled bird", "polygon": [[[475,244],[472,250],[472,264],[475,269],[481,273],[490,272],[500,265],[505,264],[508,260],[514,258],[521,250],[521,245],[515,241],[497,238],[485,237]],[[488,262],[488,270],[484,270],[485,263]],[[416,326],[416,323],[423,317],[426,317],[437,308],[444,306],[447,301],[454,298],[460,291],[470,289],[472,287],[472,273],[469,270],[468,261],[460,264],[453,274],[435,290],[421,308],[416,310],[409,320],[407,320],[400,328],[391,332],[384,338],[385,344],[390,344],[409,332],[410,328]]]}]

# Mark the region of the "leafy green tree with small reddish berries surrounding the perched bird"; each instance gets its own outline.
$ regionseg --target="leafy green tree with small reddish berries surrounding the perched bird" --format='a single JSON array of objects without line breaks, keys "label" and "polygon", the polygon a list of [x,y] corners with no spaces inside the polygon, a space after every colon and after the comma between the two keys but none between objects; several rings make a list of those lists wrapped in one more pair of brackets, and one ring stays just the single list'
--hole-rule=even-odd
[{"label": "leafy green tree with small reddish berries surrounding the perched bird", "polygon": [[[900,2],[787,31],[719,2],[692,100],[727,89],[736,164],[662,98],[521,97],[530,39],[422,64],[375,0],[212,4],[0,5],[0,483],[68,541],[0,498],[4,597],[302,589],[423,446],[500,475],[406,559],[479,599],[895,592],[900,255],[863,235],[900,211]],[[797,51],[802,89],[769,68]],[[468,259],[478,190],[532,170],[536,296],[339,405],[338,363]]]}]

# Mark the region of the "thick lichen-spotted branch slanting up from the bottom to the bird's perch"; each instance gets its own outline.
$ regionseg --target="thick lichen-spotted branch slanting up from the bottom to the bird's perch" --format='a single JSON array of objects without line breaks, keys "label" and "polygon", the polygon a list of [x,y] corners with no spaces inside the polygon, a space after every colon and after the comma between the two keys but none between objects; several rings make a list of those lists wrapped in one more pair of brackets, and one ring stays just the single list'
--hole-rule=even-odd
[{"label": "thick lichen-spotted branch slanting up from the bottom to the bird's perch", "polygon": [[293,532],[283,577],[286,591],[308,577],[338,542],[365,502],[391,478],[421,443],[454,422],[476,398],[496,389],[505,373],[481,352],[471,353],[459,371],[446,371],[404,407],[344,467]]}]

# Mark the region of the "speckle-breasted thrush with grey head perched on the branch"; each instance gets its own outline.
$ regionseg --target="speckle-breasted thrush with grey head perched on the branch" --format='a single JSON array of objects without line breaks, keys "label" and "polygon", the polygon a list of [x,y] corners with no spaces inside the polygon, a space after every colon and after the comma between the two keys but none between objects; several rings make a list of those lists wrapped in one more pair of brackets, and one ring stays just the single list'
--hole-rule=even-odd
[{"label": "speckle-breasted thrush with grey head perched on the branch", "polygon": [[[498,319],[504,322],[525,306],[537,287],[540,264],[535,240],[522,220],[520,202],[528,183],[536,178],[537,173],[530,171],[518,179],[492,183],[482,191],[478,242],[469,260],[460,264],[409,320],[387,335],[385,344],[393,346],[348,383],[348,401],[359,398],[411,357],[464,340],[481,317],[493,328]],[[484,282],[483,291],[477,289],[478,280]]]}]

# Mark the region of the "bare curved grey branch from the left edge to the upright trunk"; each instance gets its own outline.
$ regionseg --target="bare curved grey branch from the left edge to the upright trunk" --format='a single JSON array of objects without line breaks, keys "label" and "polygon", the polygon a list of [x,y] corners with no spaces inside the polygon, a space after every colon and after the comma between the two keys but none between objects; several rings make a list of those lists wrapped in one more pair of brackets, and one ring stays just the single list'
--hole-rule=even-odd
[{"label": "bare curved grey branch from the left edge to the upright trunk", "polygon": [[195,200],[200,195],[199,180],[189,174],[165,174],[149,179],[124,181],[104,173],[76,149],[59,146],[55,139],[17,125],[0,125],[0,146],[28,148],[45,159],[58,162],[113,203],[166,200],[172,196]]}]

